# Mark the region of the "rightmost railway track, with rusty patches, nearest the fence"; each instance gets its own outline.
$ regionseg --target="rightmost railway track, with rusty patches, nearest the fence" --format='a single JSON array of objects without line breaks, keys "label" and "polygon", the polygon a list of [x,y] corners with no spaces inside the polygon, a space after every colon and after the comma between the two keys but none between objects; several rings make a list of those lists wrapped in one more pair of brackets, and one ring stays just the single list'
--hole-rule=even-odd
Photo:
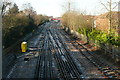
[{"label": "rightmost railway track, with rusty patches, nearest the fence", "polygon": [[[60,31],[60,30],[59,30]],[[100,60],[100,57],[95,56],[94,54],[91,54],[86,47],[84,47],[81,43],[79,43],[78,41],[75,41],[73,38],[69,38],[68,36],[66,36],[67,34],[62,31],[61,32],[62,35],[65,36],[65,38],[68,41],[74,41],[73,46],[75,46],[77,49],[79,49],[79,51],[91,62],[93,63],[98,70],[100,70],[106,77],[108,78],[120,78],[120,73],[117,72],[116,70],[114,70],[114,68],[112,68],[112,66],[108,65],[107,63],[103,62]],[[84,53],[84,51],[87,52]]]}]

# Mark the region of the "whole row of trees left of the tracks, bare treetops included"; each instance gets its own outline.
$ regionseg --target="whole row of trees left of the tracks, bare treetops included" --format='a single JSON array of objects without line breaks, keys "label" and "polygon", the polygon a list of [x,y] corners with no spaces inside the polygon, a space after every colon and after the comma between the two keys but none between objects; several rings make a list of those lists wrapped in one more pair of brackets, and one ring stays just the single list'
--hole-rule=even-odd
[{"label": "whole row of trees left of the tracks, bare treetops included", "polygon": [[37,29],[39,25],[48,21],[45,15],[37,14],[30,4],[25,4],[23,10],[19,10],[15,3],[3,3],[2,28],[3,46],[7,48]]}]

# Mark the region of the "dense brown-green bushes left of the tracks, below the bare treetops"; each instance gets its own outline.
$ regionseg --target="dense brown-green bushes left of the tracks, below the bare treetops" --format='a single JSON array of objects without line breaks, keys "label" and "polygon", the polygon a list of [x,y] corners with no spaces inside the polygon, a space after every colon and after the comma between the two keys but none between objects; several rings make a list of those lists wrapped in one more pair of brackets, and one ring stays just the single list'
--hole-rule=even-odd
[{"label": "dense brown-green bushes left of the tracks, below the bare treetops", "polygon": [[[11,9],[10,9],[11,10]],[[26,15],[23,11],[12,14],[9,13],[3,17],[3,45],[7,48],[20,40],[26,34],[37,29],[37,26],[48,20],[47,16]]]}]

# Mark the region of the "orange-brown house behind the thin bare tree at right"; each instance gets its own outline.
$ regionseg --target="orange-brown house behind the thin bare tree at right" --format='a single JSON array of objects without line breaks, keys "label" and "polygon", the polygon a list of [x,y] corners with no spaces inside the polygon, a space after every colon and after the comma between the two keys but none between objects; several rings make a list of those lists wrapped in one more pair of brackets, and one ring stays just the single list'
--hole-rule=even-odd
[{"label": "orange-brown house behind the thin bare tree at right", "polygon": [[[94,17],[94,28],[98,30],[102,30],[105,32],[109,32],[110,30],[110,13],[104,13],[99,16]],[[113,11],[111,12],[111,30],[115,30],[119,32],[119,12]]]}]

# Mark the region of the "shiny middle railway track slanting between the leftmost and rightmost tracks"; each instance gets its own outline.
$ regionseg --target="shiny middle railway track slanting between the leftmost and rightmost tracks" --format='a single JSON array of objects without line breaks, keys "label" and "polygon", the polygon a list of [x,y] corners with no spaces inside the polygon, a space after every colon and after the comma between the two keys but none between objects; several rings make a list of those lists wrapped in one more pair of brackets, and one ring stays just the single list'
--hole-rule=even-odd
[{"label": "shiny middle railway track slanting between the leftmost and rightmost tracks", "polygon": [[[62,65],[61,67],[65,66],[62,68],[62,70],[64,72],[64,78],[65,79],[80,79],[80,75],[81,72],[79,71],[79,69],[77,68],[75,62],[73,61],[73,59],[71,58],[71,56],[69,55],[68,50],[65,48],[66,46],[63,44],[63,42],[61,41],[60,37],[58,36],[57,33],[55,33],[55,31],[51,31],[52,29],[50,29],[50,34],[53,36],[51,39],[51,41],[53,41],[54,46],[57,48],[58,50],[58,54],[56,54],[56,58],[58,59],[57,61],[59,61],[59,65]],[[52,33],[54,32],[54,33]]]}]

